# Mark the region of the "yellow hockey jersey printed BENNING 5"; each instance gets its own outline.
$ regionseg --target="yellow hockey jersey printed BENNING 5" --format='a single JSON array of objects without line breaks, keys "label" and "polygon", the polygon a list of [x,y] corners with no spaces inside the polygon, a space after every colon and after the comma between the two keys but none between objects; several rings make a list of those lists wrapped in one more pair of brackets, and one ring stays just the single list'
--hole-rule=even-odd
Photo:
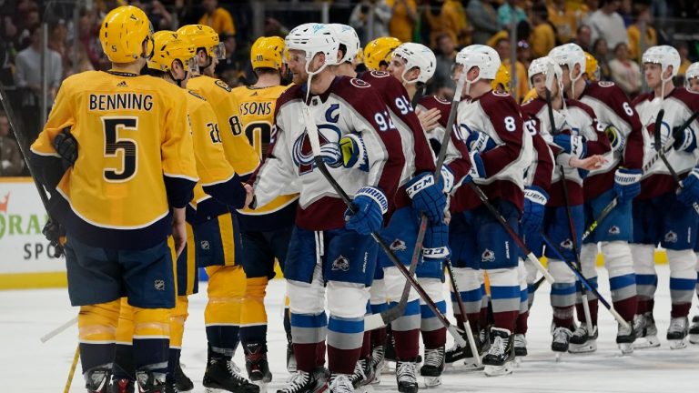
[{"label": "yellow hockey jersey printed BENNING 5", "polygon": [[78,157],[56,186],[51,213],[68,236],[127,249],[165,241],[169,207],[185,207],[198,180],[185,92],[151,76],[68,77],[31,147],[38,173],[60,167],[53,141],[66,126]]}]

